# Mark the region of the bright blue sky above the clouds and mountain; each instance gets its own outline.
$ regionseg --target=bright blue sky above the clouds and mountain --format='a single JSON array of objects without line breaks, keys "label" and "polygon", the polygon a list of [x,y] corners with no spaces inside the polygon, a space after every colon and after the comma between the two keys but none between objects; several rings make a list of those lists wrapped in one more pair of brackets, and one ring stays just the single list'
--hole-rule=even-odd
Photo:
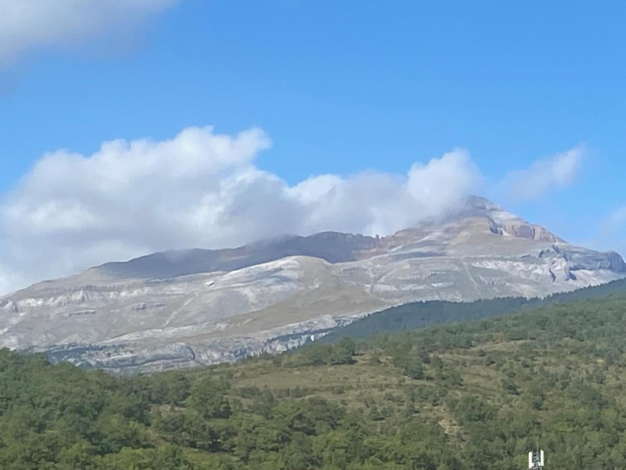
[{"label": "bright blue sky above the clouds and mountain", "polygon": [[[0,48],[4,199],[26,191],[20,180],[46,152],[88,158],[118,138],[259,127],[272,145],[259,144],[255,169],[290,187],[312,175],[406,175],[462,148],[482,194],[568,240],[626,249],[626,4],[142,1],[153,9],[120,8],[97,34],[42,38],[34,20],[13,24],[21,43]],[[71,29],[80,18],[37,21]],[[582,163],[567,182],[533,197],[503,189],[511,173],[573,148]],[[151,248],[162,247],[133,249]]]}]

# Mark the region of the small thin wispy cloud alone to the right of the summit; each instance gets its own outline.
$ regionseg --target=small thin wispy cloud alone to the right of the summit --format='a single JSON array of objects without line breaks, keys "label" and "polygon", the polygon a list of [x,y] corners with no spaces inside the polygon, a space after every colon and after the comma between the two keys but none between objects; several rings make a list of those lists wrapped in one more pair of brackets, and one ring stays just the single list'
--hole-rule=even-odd
[{"label": "small thin wispy cloud alone to the right of the summit", "polygon": [[532,201],[553,189],[567,187],[576,179],[584,154],[585,147],[578,146],[537,160],[528,169],[510,172],[500,182],[500,192],[515,201]]}]

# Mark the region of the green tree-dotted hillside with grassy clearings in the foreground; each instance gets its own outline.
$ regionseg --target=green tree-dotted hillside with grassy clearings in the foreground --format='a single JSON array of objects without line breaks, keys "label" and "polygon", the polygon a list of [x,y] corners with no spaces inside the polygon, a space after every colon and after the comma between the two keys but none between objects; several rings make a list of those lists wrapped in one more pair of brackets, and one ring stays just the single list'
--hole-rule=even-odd
[{"label": "green tree-dotted hillside with grassy clearings in the foreground", "polygon": [[626,295],[110,377],[0,351],[6,470],[626,467]]}]

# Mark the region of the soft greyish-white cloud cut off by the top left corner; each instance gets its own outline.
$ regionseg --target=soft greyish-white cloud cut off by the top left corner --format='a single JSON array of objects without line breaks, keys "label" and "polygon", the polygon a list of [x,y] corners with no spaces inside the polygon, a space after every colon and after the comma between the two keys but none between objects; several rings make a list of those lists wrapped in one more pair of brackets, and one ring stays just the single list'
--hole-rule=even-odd
[{"label": "soft greyish-white cloud cut off by the top left corner", "polygon": [[126,37],[178,0],[0,0],[0,68],[33,48]]}]

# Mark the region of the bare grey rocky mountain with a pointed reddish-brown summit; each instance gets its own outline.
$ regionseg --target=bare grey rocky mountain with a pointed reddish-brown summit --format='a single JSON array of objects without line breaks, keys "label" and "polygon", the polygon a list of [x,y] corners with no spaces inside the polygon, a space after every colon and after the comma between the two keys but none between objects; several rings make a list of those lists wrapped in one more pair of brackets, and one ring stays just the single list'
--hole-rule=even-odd
[{"label": "bare grey rocky mountain with a pointed reddish-brown summit", "polygon": [[0,300],[0,347],[113,372],[235,360],[299,345],[411,301],[541,297],[625,278],[480,197],[383,238],[322,232],[155,253]]}]

